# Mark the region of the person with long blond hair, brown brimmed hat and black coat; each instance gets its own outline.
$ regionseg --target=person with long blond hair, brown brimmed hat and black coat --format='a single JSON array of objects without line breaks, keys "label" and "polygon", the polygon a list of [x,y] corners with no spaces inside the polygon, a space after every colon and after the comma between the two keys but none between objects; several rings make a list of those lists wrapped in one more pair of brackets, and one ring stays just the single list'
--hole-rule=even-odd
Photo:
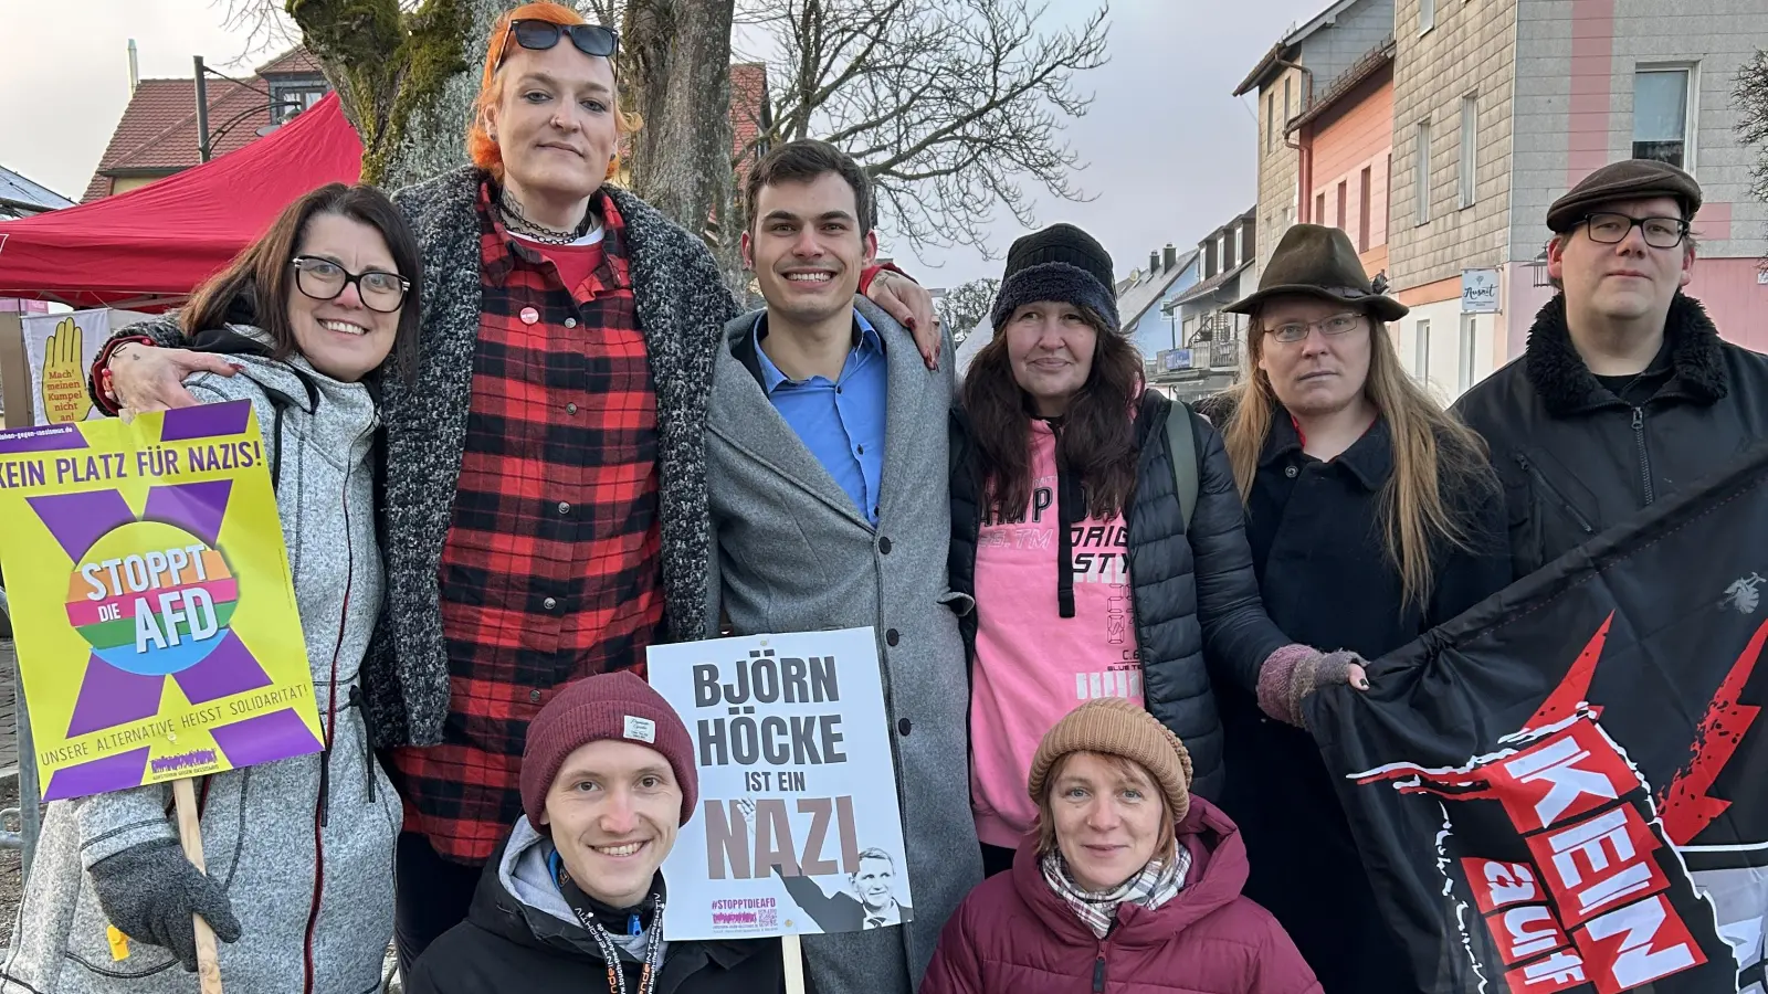
[{"label": "person with long blond hair, brown brimmed hat and black coat", "polygon": [[[1291,228],[1259,292],[1229,310],[1252,315],[1252,375],[1202,407],[1222,426],[1259,593],[1284,631],[1376,660],[1508,584],[1485,447],[1400,368],[1386,322],[1406,306],[1372,290],[1344,232]],[[1416,990],[1299,709],[1232,681],[1216,697],[1246,893],[1330,994]]]}]

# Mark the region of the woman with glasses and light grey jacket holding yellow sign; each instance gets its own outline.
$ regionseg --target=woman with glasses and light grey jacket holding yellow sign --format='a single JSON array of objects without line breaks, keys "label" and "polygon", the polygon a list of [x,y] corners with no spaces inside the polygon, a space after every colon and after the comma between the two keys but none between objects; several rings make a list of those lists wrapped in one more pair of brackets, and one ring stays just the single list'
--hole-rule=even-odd
[{"label": "woman with glasses and light grey jacket holding yellow sign", "polygon": [[202,780],[209,874],[184,858],[168,785],[50,805],[0,990],[191,990],[193,914],[225,943],[232,990],[380,985],[403,810],[361,692],[384,589],[373,447],[380,389],[417,348],[421,281],[392,202],[331,184],[179,317],[191,348],[235,366],[191,375],[189,393],[258,416],[313,670],[313,700],[293,707],[318,711],[325,750]]}]

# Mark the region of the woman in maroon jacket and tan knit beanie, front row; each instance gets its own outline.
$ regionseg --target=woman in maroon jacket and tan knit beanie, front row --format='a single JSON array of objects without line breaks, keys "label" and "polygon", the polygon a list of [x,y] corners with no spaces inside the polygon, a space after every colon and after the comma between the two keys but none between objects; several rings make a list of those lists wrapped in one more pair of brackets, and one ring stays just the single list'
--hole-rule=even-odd
[{"label": "woman in maroon jacket and tan knit beanie, front row", "polygon": [[1246,849],[1190,780],[1147,711],[1070,711],[1031,762],[1036,831],[946,923],[921,994],[1319,994],[1284,927],[1241,897]]}]

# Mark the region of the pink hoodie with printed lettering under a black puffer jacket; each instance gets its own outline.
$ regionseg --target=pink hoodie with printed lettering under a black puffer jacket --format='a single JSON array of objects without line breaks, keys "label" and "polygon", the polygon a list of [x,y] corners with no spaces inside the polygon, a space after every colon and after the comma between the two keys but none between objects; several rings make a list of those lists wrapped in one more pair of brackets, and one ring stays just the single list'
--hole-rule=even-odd
[{"label": "pink hoodie with printed lettering under a black puffer jacket", "polygon": [[976,835],[1001,847],[1018,845],[1036,817],[1025,778],[1043,734],[1082,700],[1142,704],[1128,527],[1121,516],[1073,525],[1075,616],[1061,617],[1055,435],[1043,421],[1031,428],[1031,506],[976,536],[971,807]]}]

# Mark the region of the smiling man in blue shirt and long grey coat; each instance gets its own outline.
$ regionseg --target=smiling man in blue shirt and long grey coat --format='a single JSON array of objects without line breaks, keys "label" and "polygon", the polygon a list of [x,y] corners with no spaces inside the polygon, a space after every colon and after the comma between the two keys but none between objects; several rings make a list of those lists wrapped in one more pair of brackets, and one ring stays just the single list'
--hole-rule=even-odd
[{"label": "smiling man in blue shirt and long grey coat", "polygon": [[[767,310],[727,325],[713,366],[707,619],[723,612],[739,633],[875,631],[903,819],[903,858],[891,854],[907,875],[895,881],[900,923],[806,936],[804,957],[819,994],[911,994],[981,879],[956,624],[969,600],[946,582],[951,343],[928,370],[911,334],[854,295],[877,235],[870,180],[849,156],[781,145],[744,198],[744,262]],[[879,785],[838,764],[806,776],[794,798],[850,794],[866,824],[865,792]],[[801,821],[794,838],[812,830],[812,815]],[[833,838],[824,849],[834,856]]]}]

